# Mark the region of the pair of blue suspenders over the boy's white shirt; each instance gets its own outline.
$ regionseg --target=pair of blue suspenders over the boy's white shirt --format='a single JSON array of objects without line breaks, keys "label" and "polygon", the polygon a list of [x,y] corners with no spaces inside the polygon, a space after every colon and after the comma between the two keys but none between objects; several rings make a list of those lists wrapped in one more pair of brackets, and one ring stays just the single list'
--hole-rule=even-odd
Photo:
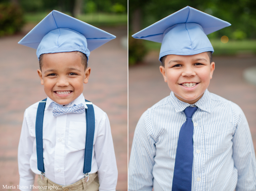
[{"label": "pair of blue suspenders over the boy's white shirt", "polygon": [[[36,113],[36,152],[37,152],[37,168],[44,175],[44,160],[43,160],[43,119],[44,108],[46,99],[39,101],[39,105]],[[84,151],[84,174],[88,176],[88,172],[91,171],[92,164],[92,148],[95,129],[95,115],[92,102],[85,99],[87,109],[85,109],[86,116],[86,139],[85,139],[85,151]]]}]

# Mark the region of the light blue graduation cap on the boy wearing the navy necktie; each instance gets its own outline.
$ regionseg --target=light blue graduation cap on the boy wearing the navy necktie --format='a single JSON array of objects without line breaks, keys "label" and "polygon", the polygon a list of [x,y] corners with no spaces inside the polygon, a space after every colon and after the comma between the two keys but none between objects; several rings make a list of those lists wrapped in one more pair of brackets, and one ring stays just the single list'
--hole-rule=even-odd
[{"label": "light blue graduation cap on the boy wearing the navy necktie", "polygon": [[226,21],[187,6],[132,37],[162,43],[160,60],[161,57],[169,54],[195,55],[214,52],[206,35],[230,25]]}]

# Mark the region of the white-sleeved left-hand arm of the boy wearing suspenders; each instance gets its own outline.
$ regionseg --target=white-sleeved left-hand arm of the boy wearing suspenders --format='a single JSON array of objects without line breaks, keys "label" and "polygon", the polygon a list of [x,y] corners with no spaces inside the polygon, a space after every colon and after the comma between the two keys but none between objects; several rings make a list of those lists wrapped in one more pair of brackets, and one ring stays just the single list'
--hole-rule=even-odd
[{"label": "white-sleeved left-hand arm of the boy wearing suspenders", "polygon": [[34,184],[35,173],[30,169],[30,157],[33,152],[34,137],[29,135],[29,130],[26,121],[26,111],[24,113],[20,141],[18,146],[18,167],[20,174],[19,189],[21,191],[30,191],[30,185]]}]

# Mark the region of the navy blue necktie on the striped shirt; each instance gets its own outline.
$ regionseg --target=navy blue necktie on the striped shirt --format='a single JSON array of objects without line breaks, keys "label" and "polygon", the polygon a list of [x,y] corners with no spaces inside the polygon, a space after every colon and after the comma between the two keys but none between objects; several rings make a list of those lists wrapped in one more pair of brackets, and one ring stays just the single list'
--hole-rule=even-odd
[{"label": "navy blue necktie on the striped shirt", "polygon": [[192,116],[197,107],[184,110],[186,121],[180,128],[175,157],[172,191],[191,191],[193,164],[193,131]]}]

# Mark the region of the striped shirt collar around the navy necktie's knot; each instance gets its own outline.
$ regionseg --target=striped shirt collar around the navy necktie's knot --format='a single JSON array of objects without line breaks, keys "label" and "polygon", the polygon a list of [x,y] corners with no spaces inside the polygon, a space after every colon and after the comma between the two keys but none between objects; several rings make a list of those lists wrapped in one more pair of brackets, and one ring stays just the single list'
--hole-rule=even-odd
[{"label": "striped shirt collar around the navy necktie's knot", "polygon": [[181,112],[188,106],[196,105],[199,109],[210,113],[211,95],[207,89],[205,90],[204,95],[195,104],[189,104],[179,100],[174,95],[173,92],[170,93],[170,96],[171,96],[172,105],[174,106],[176,112]]}]

